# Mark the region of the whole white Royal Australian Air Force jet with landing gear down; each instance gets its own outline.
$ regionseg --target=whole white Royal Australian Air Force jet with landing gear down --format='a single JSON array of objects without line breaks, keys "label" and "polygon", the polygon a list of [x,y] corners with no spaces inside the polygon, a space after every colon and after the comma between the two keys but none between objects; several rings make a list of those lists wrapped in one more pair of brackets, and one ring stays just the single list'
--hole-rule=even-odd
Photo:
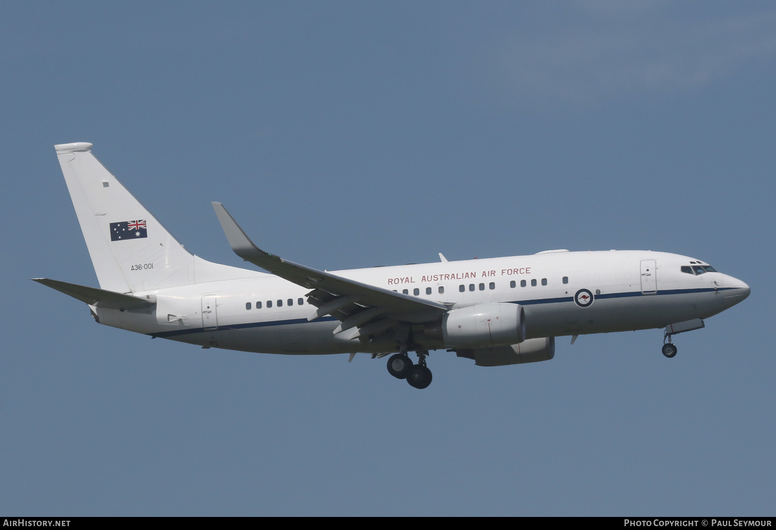
[{"label": "whole white Royal Australian Air Force jet with landing gear down", "polygon": [[[238,256],[267,270],[189,253],[99,163],[91,143],[54,146],[100,288],[36,278],[84,301],[100,324],[203,348],[314,355],[393,353],[388,371],[431,384],[426,356],[454,351],[486,367],[555,355],[555,337],[665,328],[671,337],[749,295],[701,260],[649,250],[569,252],[316,270],[266,253],[220,203]],[[417,353],[414,363],[409,352]]]}]

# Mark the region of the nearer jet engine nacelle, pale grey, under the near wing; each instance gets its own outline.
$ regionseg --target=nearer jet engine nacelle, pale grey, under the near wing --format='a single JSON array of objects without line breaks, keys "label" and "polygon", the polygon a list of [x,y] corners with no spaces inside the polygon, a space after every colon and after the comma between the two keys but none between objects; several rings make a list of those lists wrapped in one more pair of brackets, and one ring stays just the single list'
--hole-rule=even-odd
[{"label": "nearer jet engine nacelle, pale grey, under the near wing", "polygon": [[491,303],[453,309],[442,317],[442,340],[449,348],[507,346],[525,340],[521,305]]}]

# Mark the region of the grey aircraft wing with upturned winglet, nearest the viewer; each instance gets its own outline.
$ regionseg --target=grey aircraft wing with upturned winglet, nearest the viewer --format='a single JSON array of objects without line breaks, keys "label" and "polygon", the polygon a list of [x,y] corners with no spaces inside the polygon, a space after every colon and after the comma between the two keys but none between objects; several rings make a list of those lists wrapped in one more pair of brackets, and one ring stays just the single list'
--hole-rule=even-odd
[{"label": "grey aircraft wing with upturned winglet, nearest the viewer", "polygon": [[[390,322],[424,322],[435,319],[448,310],[446,305],[436,301],[362,284],[266,253],[251,241],[220,202],[212,204],[234,253],[276,276],[314,289],[307,297],[311,304],[318,307],[318,311],[308,319],[333,315],[343,321],[335,332],[353,327],[369,330],[383,328],[380,331],[384,331],[386,326],[390,327]],[[372,323],[367,325],[369,322]]]}]

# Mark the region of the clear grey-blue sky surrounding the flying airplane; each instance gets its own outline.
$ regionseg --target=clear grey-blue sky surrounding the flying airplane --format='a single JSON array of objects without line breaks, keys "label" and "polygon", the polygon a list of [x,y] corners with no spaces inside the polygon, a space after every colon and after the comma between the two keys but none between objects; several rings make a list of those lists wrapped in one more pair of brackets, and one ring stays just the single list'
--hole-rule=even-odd
[{"label": "clear grey-blue sky surrounding the flying airplane", "polygon": [[[773,515],[770,2],[4,2],[0,513]],[[53,145],[189,250],[311,267],[644,249],[752,288],[416,391],[357,356],[95,325]]]}]

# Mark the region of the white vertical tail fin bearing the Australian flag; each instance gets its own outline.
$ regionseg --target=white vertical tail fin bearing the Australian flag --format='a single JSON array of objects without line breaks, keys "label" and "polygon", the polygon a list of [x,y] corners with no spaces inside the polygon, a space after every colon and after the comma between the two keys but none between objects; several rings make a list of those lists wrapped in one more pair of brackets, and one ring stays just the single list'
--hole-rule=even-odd
[{"label": "white vertical tail fin bearing the Australian flag", "polygon": [[91,147],[77,142],[54,149],[102,289],[129,293],[259,275],[207,262],[185,250],[99,163]]}]

